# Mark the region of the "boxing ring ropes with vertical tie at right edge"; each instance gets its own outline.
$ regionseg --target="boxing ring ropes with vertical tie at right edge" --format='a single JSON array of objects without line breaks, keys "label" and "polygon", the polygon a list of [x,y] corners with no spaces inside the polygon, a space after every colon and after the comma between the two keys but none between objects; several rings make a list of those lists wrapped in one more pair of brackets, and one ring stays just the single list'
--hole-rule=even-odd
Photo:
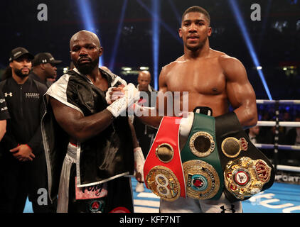
[{"label": "boxing ring ropes with vertical tie at right edge", "polygon": [[275,170],[285,170],[291,172],[300,172],[300,167],[289,165],[277,165],[278,150],[300,150],[298,145],[279,145],[279,126],[282,127],[300,127],[300,122],[279,121],[279,104],[300,105],[300,100],[264,100],[257,99],[257,104],[274,104],[276,121],[257,121],[257,126],[275,126],[274,144],[255,143],[257,148],[273,149],[274,148],[274,168]]}]

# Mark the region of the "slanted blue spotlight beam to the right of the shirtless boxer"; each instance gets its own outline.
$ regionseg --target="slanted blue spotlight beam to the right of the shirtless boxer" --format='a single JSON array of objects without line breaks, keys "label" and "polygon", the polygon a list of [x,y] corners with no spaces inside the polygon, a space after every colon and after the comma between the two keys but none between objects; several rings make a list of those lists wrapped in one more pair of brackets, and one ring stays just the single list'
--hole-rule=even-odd
[{"label": "slanted blue spotlight beam to the right of the shirtless boxer", "polygon": [[[257,67],[260,66],[259,60],[257,58],[257,54],[255,52],[255,48],[252,45],[252,41],[250,39],[250,35],[249,35],[249,33],[247,31],[247,28],[245,26],[244,19],[242,18],[242,15],[240,13],[240,9],[238,8],[237,2],[235,0],[229,0],[229,2],[230,2],[230,6],[231,6],[231,8],[233,10],[233,14],[235,15],[235,19],[237,21],[237,24],[240,27],[240,30],[242,31],[242,36],[244,37],[244,40],[246,42],[246,45],[247,45],[247,48],[248,48],[248,50],[250,52],[252,60],[253,60],[253,62],[255,64],[255,67],[257,68]],[[269,87],[267,85],[267,82],[264,79],[264,74],[263,74],[262,70],[257,70],[257,72],[259,74],[260,79],[262,80],[262,84],[264,86],[264,90],[267,92],[267,96],[269,97],[270,100],[273,100],[272,96],[271,96],[271,94],[269,92]]]}]

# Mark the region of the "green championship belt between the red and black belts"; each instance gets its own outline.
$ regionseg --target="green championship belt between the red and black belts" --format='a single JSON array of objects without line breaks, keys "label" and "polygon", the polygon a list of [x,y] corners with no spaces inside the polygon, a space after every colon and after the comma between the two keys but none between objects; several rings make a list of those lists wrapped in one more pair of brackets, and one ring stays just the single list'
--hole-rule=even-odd
[{"label": "green championship belt between the red and black belts", "polygon": [[186,194],[193,199],[219,199],[223,170],[215,137],[215,118],[194,114],[193,126],[181,151]]}]

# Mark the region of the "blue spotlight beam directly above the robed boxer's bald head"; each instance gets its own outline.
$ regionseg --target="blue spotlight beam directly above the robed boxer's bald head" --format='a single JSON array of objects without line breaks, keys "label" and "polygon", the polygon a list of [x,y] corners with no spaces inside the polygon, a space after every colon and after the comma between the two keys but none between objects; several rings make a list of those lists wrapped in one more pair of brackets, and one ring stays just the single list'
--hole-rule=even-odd
[{"label": "blue spotlight beam directly above the robed boxer's bald head", "polygon": [[[96,33],[95,24],[92,20],[92,11],[90,7],[90,1],[76,0],[78,9],[80,10],[80,15],[82,16],[82,21],[84,23],[84,29]],[[97,34],[99,37],[99,34]],[[100,38],[99,38],[100,39]],[[101,40],[100,40],[101,43]],[[99,58],[99,66],[102,66],[103,55]]]}]

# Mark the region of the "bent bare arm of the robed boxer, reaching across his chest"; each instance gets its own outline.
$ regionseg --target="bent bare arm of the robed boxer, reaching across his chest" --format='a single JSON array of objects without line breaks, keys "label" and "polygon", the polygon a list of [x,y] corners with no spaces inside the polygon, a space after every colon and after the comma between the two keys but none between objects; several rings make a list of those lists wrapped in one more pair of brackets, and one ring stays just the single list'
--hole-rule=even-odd
[{"label": "bent bare arm of the robed boxer, reaching across his chest", "polygon": [[106,109],[100,113],[85,117],[80,111],[70,108],[52,97],[50,97],[50,104],[56,121],[70,135],[70,139],[73,142],[83,142],[97,135],[105,130],[114,120],[112,114]]}]

